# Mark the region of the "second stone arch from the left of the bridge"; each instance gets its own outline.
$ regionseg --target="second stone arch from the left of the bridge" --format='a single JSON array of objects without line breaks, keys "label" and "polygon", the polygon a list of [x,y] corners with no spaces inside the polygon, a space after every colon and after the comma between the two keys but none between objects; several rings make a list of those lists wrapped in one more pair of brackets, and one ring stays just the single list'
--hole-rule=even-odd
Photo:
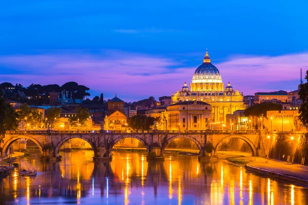
[{"label": "second stone arch from the left of the bridge", "polygon": [[63,144],[67,140],[74,139],[74,138],[79,138],[79,139],[83,139],[83,140],[87,141],[91,145],[91,147],[93,149],[94,156],[98,156],[98,149],[97,149],[97,146],[96,146],[95,142],[93,141],[92,135],[89,135],[89,136],[87,136],[87,135],[85,135],[85,136],[82,136],[82,135],[80,135],[80,136],[68,135],[68,136],[65,136],[65,137],[61,138],[59,140],[59,142],[57,142],[57,144],[53,148],[53,156],[54,157],[59,156],[59,152],[60,152],[60,149],[63,146]]}]

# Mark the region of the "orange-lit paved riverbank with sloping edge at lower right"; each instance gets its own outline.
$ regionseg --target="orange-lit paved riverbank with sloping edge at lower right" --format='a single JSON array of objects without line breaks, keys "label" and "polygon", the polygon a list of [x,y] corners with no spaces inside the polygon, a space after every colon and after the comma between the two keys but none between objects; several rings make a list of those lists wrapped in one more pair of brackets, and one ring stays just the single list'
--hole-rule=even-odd
[{"label": "orange-lit paved riverbank with sloping edge at lower right", "polygon": [[246,170],[308,186],[307,166],[274,159],[269,159],[266,163],[264,158],[254,158],[256,158],[256,161],[248,163],[245,166]]}]

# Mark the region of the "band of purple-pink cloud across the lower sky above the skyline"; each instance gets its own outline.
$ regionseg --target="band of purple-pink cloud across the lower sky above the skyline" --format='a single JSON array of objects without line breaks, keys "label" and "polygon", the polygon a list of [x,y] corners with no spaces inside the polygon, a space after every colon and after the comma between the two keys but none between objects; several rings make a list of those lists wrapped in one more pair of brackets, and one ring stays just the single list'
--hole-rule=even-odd
[{"label": "band of purple-pink cloud across the lower sky above the skyline", "polygon": [[[62,85],[76,81],[91,89],[91,97],[103,92],[105,99],[113,97],[114,93],[125,101],[148,96],[158,98],[181,89],[184,81],[191,83],[192,74],[202,63],[204,55],[186,53],[164,57],[119,50],[101,50],[95,54],[84,50],[38,53],[0,56],[0,66],[8,69],[8,74],[0,74],[0,81],[24,86],[32,83]],[[234,89],[244,95],[278,89],[296,90],[300,81],[299,69],[303,69],[304,75],[308,69],[308,53],[280,56],[234,54],[219,62],[210,50],[209,55],[225,86],[230,81]],[[186,56],[195,59],[196,65],[186,66]]]}]

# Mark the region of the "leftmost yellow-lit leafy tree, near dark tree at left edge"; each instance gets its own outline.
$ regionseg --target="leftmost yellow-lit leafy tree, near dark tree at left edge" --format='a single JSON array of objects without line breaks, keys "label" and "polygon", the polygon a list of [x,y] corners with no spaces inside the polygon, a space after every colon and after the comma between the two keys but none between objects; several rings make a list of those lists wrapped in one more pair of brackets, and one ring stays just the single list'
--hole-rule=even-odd
[{"label": "leftmost yellow-lit leafy tree, near dark tree at left edge", "polygon": [[[22,104],[17,111],[20,121],[25,121],[29,124],[29,128],[38,127],[42,119],[42,113],[35,109],[31,109],[26,103]],[[26,125],[26,128],[28,126]]]}]

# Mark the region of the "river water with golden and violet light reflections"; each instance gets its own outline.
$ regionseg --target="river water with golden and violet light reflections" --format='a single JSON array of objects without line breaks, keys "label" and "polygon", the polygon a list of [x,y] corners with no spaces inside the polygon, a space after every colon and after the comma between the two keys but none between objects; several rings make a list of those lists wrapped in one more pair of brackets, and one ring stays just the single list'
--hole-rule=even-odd
[{"label": "river water with golden and violet light reflections", "polygon": [[145,153],[113,152],[110,163],[94,163],[90,150],[60,155],[60,162],[40,161],[36,152],[18,160],[38,174],[0,179],[0,204],[308,203],[307,188],[197,156],[166,154],[164,162],[147,162]]}]

